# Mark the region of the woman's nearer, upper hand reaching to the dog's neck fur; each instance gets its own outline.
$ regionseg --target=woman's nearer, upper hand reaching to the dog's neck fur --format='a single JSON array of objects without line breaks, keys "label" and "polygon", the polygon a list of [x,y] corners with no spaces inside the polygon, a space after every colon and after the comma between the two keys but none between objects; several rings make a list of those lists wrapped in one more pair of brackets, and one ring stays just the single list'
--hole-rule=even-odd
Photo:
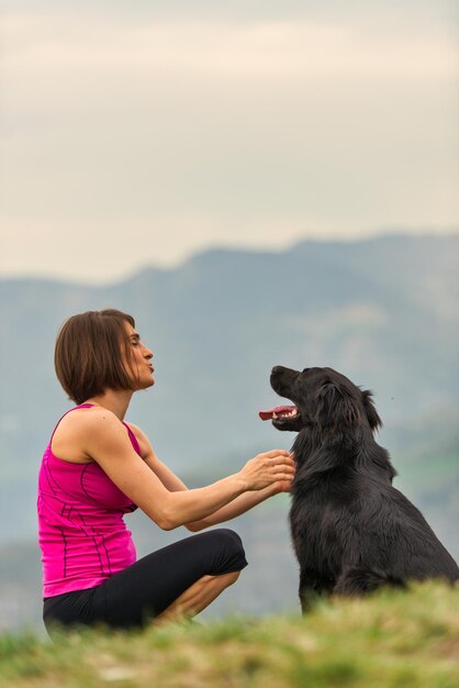
[{"label": "woman's nearer, upper hand reaching to the dog's neck fur", "polygon": [[286,450],[264,452],[246,463],[239,477],[246,481],[247,490],[262,490],[272,485],[279,492],[287,492],[294,477],[294,460]]}]

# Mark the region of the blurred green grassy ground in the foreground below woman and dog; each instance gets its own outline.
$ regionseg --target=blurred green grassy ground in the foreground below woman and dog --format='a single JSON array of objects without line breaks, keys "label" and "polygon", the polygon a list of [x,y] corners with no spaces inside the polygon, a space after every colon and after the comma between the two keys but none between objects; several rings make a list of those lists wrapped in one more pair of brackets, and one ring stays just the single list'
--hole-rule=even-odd
[{"label": "blurred green grassy ground in the foreground below woman and dog", "polygon": [[2,688],[458,688],[459,588],[142,633],[0,636]]}]

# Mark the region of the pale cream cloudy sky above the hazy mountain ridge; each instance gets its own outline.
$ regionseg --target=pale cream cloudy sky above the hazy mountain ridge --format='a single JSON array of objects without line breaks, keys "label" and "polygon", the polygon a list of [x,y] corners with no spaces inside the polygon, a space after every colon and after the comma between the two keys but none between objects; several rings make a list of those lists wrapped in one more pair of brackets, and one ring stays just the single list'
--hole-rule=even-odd
[{"label": "pale cream cloudy sky above the hazy mountain ridge", "polygon": [[0,277],[459,231],[445,0],[3,0]]}]

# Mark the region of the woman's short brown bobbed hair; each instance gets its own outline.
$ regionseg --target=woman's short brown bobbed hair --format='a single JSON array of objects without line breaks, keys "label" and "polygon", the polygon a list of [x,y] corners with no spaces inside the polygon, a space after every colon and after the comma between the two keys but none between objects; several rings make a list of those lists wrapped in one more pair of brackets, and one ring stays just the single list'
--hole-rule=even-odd
[{"label": "woman's short brown bobbed hair", "polygon": [[132,389],[122,347],[130,351],[125,324],[134,318],[115,309],[87,311],[69,318],[56,340],[54,366],[69,399],[82,403],[105,389]]}]

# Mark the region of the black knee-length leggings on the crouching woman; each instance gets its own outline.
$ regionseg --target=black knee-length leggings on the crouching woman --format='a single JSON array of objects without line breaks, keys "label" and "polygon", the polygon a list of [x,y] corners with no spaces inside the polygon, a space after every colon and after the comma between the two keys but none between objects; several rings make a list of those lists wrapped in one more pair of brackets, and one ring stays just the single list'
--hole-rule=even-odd
[{"label": "black knee-length leggings on the crouching woman", "polygon": [[51,635],[55,625],[143,626],[202,576],[245,566],[237,533],[225,528],[199,533],[148,554],[96,588],[45,598],[43,620]]}]

